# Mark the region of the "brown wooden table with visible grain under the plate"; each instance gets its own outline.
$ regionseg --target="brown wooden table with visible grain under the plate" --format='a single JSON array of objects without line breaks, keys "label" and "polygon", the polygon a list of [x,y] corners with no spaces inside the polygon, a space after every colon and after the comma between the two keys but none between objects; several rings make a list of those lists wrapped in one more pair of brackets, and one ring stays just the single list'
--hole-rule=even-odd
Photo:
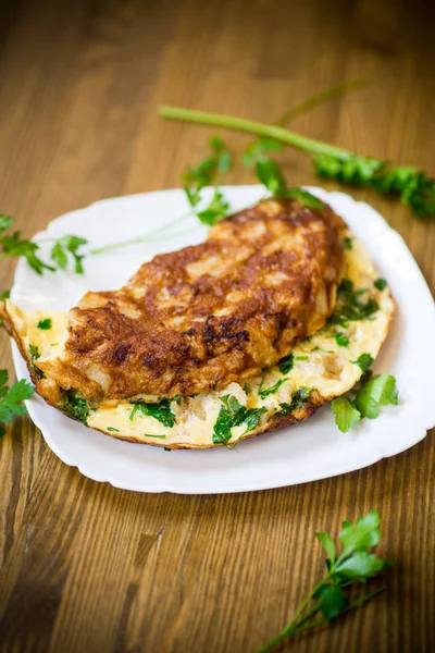
[{"label": "brown wooden table with visible grain under the plate", "polygon": [[[273,120],[356,77],[364,90],[295,128],[434,174],[434,19],[433,3],[405,0],[10,3],[0,19],[1,211],[32,236],[100,198],[179,185],[211,132],[159,120],[161,102]],[[291,184],[313,183],[307,157],[288,149],[281,160]],[[435,221],[355,194],[399,231],[434,288]],[[1,262],[2,287],[13,267]],[[398,564],[388,591],[288,650],[434,651],[434,453],[427,438],[369,469],[269,492],[135,494],[66,467],[16,419],[0,443],[0,648],[253,652],[321,572],[314,531],[336,533],[375,508],[381,553]]]}]

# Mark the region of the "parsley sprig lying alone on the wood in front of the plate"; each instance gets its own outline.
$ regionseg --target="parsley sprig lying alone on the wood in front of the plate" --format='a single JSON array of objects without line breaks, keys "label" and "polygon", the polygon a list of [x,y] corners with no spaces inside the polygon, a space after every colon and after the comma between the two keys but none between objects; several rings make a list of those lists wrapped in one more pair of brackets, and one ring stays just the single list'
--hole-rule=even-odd
[{"label": "parsley sprig lying alone on the wood in front of the plate", "polygon": [[380,542],[380,525],[381,519],[375,510],[371,510],[365,517],[359,517],[356,523],[344,521],[338,535],[341,545],[339,555],[337,544],[328,533],[315,533],[327,555],[327,572],[301,602],[289,624],[261,646],[258,653],[271,651],[291,634],[336,619],[364,605],[386,589],[382,586],[353,601],[348,599],[350,587],[365,583],[394,564],[370,552]]}]

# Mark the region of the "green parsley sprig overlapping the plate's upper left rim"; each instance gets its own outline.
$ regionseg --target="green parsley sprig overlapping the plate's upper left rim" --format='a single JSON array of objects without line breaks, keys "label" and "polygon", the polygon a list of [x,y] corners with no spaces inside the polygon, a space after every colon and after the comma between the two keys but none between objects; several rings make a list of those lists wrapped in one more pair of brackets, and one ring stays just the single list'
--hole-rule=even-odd
[{"label": "green parsley sprig overlapping the plate's upper left rim", "polygon": [[[0,260],[9,257],[23,257],[37,274],[44,274],[46,271],[55,272],[55,270],[66,270],[69,258],[74,261],[76,274],[83,274],[84,255],[79,251],[83,245],[87,244],[86,238],[80,236],[66,235],[54,239],[50,252],[50,263],[44,261],[38,252],[39,245],[33,241],[22,238],[20,231],[7,233],[13,226],[14,220],[9,215],[0,215]],[[52,263],[52,264],[51,264]]]}]

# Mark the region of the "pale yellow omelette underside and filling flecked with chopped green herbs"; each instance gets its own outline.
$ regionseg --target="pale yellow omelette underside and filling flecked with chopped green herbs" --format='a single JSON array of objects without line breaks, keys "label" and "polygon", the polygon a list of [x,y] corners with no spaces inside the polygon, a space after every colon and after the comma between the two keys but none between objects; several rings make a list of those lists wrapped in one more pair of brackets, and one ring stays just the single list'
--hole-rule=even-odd
[{"label": "pale yellow omelette underside and filling flecked with chopped green herbs", "polygon": [[108,435],[167,448],[232,447],[279,421],[307,419],[360,380],[361,357],[376,358],[394,304],[386,282],[378,279],[370,256],[350,232],[344,245],[345,280],[325,326],[261,375],[196,396],[162,399],[145,395],[142,401],[90,405],[74,389],[59,389],[38,368],[38,361],[62,357],[69,315],[26,312],[11,301],[5,307],[37,392],[69,417]]}]

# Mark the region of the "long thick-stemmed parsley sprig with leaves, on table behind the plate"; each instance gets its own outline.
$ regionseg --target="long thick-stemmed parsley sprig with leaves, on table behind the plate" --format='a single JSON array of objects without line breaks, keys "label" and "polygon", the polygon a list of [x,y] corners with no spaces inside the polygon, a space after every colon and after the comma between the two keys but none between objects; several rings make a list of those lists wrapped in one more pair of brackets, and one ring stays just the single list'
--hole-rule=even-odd
[{"label": "long thick-stemmed parsley sprig with leaves, on table behind the plate", "polygon": [[203,125],[248,132],[284,143],[312,157],[321,177],[357,186],[371,186],[383,195],[396,195],[401,204],[419,217],[435,217],[435,180],[423,171],[407,165],[391,168],[386,161],[361,157],[349,150],[290,132],[282,126],[264,124],[233,115],[195,111],[181,107],[160,107],[159,114]]}]

